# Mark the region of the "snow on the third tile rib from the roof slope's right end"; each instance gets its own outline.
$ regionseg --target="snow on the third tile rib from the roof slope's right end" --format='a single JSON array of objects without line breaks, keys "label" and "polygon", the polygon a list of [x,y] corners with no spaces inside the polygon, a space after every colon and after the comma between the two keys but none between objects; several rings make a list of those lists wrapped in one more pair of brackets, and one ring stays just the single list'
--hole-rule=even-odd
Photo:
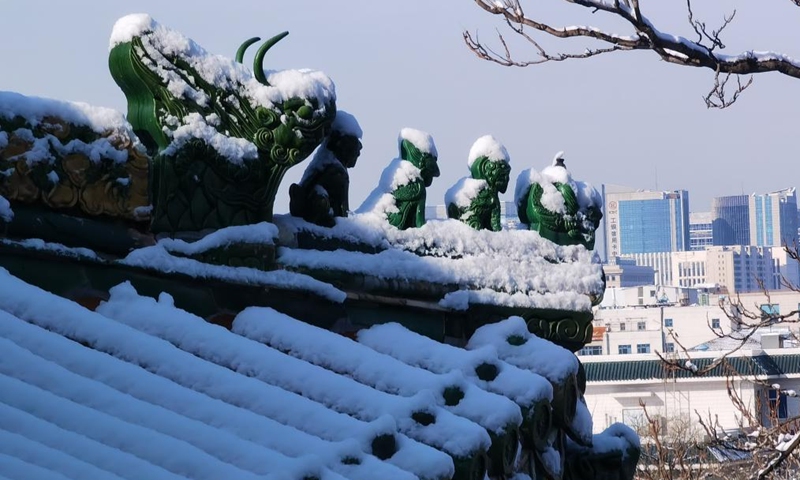
[{"label": "snow on the third tile rib from the roof slope's right end", "polygon": [[[522,413],[516,404],[467,382],[460,371],[435,374],[421,370],[269,308],[246,309],[234,320],[233,331],[314,365],[348,374],[354,380],[383,392],[412,397],[427,391],[436,398],[439,407],[496,434],[502,434],[509,427],[518,427],[522,422]],[[396,345],[398,348],[401,345],[413,348],[402,340]],[[455,400],[448,398],[449,394]]]}]

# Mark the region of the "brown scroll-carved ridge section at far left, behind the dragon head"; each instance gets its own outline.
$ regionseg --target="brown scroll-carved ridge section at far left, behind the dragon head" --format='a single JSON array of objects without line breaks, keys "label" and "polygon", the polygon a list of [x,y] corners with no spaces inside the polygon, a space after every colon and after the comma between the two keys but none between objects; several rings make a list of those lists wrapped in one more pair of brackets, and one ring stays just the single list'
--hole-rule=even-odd
[{"label": "brown scroll-carved ridge section at far left, behind the dragon head", "polygon": [[[20,117],[0,119],[0,131],[8,135],[0,149],[0,195],[11,202],[147,219],[149,158],[124,132],[96,133],[56,117],[45,117],[35,127]],[[36,150],[43,142],[49,158]],[[117,158],[104,152],[92,160],[81,145],[93,142],[107,143]],[[120,154],[127,159],[119,161]]]}]

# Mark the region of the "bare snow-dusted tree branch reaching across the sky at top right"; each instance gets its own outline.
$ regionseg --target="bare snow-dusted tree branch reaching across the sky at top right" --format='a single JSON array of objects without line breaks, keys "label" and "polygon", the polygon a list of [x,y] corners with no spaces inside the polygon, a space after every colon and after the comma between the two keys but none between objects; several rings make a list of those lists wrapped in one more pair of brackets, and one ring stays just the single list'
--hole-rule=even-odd
[{"label": "bare snow-dusted tree branch reaching across the sky at top right", "polygon": [[[625,35],[612,33],[594,26],[553,26],[540,18],[541,8],[535,0],[475,0],[480,8],[500,17],[505,28],[522,38],[532,47],[535,56],[522,59],[512,49],[506,36],[498,30],[495,46],[483,42],[477,33],[464,31],[464,41],[478,57],[504,66],[526,67],[545,62],[561,62],[590,58],[611,52],[649,50],[662,60],[676,65],[702,67],[714,72],[711,90],[704,96],[709,108],[726,108],[753,82],[753,74],[779,72],[800,78],[800,61],[775,52],[744,51],[729,55],[725,49],[723,33],[734,21],[736,11],[723,17],[717,27],[698,20],[692,10],[691,0],[686,0],[687,20],[694,38],[685,38],[660,29],[647,12],[642,11],[639,0],[551,0],[584,7],[592,13],[622,20],[628,27]],[[800,7],[800,0],[789,0]],[[527,14],[525,6],[536,10]],[[539,8],[535,8],[539,7]],[[586,48],[575,53],[550,52],[540,38],[551,36],[560,39],[582,38]],[[748,76],[742,78],[742,76]],[[733,81],[731,81],[733,80]]]}]

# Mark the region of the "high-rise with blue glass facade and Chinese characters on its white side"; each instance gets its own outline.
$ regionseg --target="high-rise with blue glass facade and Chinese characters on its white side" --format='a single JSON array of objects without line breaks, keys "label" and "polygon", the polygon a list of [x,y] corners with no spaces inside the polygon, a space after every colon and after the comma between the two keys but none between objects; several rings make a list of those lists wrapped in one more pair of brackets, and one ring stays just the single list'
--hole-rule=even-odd
[{"label": "high-rise with blue glass facade and Chinese characters on its white side", "polygon": [[603,185],[607,258],[689,249],[689,192]]}]

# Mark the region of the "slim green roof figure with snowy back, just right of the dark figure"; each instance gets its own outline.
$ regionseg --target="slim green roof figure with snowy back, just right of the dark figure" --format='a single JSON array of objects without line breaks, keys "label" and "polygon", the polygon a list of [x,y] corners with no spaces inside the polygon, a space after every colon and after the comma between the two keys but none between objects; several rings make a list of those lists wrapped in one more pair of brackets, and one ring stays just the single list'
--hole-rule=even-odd
[{"label": "slim green roof figure with snowy back, just right of the dark figure", "polygon": [[400,157],[383,170],[378,188],[357,213],[385,215],[390,224],[405,230],[425,224],[425,188],[439,176],[438,153],[433,137],[404,128],[398,137]]}]

